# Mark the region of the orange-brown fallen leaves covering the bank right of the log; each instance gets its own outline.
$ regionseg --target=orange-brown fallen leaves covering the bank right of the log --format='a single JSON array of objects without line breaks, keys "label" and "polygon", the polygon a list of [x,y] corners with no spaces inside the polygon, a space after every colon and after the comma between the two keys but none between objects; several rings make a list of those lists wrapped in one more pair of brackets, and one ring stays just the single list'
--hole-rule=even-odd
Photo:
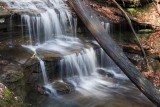
[{"label": "orange-brown fallen leaves covering the bank right of the log", "polygon": [[[112,23],[122,23],[125,21],[123,13],[116,7],[102,6],[98,3],[90,3],[95,11],[102,14]],[[149,24],[153,31],[146,38],[142,39],[142,46],[150,54],[156,56],[160,65],[160,14],[155,5],[150,3],[138,8],[125,8],[127,14],[139,23]],[[160,88],[160,70],[158,72],[142,72],[155,86]]]}]

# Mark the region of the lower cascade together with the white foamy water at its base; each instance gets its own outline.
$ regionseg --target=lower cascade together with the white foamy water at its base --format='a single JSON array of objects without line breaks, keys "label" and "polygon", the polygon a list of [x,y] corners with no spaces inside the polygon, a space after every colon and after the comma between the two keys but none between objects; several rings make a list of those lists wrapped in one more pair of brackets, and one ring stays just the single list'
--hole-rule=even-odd
[{"label": "lower cascade together with the white foamy water at its base", "polygon": [[[111,60],[103,56],[106,55],[104,51],[101,50],[99,54],[102,62]],[[84,49],[78,54],[64,56],[60,61],[61,81],[73,84],[76,90],[85,96],[106,96],[104,94],[105,87],[115,87],[117,84],[104,80],[97,70],[102,69],[104,72],[111,73],[117,79],[128,80],[128,78],[122,72],[115,72],[112,69],[115,64],[110,64],[110,69],[105,64],[107,63],[98,64],[96,51],[93,48]]]}]

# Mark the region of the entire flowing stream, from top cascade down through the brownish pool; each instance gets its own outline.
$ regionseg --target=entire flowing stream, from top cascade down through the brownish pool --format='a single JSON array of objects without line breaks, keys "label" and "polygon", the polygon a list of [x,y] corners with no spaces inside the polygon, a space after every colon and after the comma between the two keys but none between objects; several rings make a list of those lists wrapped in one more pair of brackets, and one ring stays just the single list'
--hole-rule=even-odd
[{"label": "entire flowing stream, from top cascade down through the brownish pool", "polygon": [[[23,46],[35,53],[43,74],[44,87],[54,94],[45,100],[37,98],[35,105],[153,107],[102,49],[86,47],[78,38],[77,18],[72,17],[65,0],[1,1],[6,2],[11,9],[26,12],[21,15],[22,25],[25,25],[22,27],[22,36],[29,37],[29,42]],[[109,23],[103,25],[109,33]],[[93,43],[97,44],[95,41]],[[45,62],[38,50],[62,55],[58,81],[72,84],[75,92],[64,96],[57,94],[52,86],[53,81],[48,79]]]}]

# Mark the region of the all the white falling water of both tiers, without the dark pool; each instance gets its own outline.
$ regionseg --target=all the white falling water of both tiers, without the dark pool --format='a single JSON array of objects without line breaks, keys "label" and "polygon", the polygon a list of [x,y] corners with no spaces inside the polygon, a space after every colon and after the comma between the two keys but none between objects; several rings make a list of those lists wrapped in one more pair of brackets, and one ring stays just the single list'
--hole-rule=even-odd
[{"label": "all the white falling water of both tiers, without the dark pool", "polygon": [[[71,11],[64,0],[4,0],[11,9],[22,10],[21,22],[22,36],[29,37],[29,43],[23,45],[31,49],[37,59],[44,79],[44,87],[51,93],[56,94],[49,81],[45,62],[37,53],[38,49],[43,51],[62,54],[60,61],[61,80],[73,84],[77,91],[82,94],[96,94],[103,96],[104,86],[112,87],[113,83],[101,78],[97,70],[102,69],[110,72],[115,78],[124,79],[123,74],[115,72],[106,66],[108,59],[105,60],[104,51],[100,52],[101,63],[98,63],[96,52],[93,48],[84,48],[83,42],[77,38],[77,18],[72,18]],[[35,11],[30,13],[28,11]],[[25,13],[25,11],[27,11]],[[103,23],[106,30],[109,29],[108,23]],[[74,52],[74,50],[78,50]],[[113,67],[113,65],[111,64]]]}]

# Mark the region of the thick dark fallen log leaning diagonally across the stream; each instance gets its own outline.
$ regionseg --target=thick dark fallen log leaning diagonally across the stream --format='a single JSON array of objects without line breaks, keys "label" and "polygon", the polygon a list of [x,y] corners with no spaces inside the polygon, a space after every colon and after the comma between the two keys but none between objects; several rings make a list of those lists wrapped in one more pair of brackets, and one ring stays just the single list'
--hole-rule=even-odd
[{"label": "thick dark fallen log leaning diagonally across the stream", "polygon": [[103,50],[127,75],[137,88],[156,106],[160,107],[160,92],[125,56],[122,49],[114,42],[101,25],[98,16],[91,9],[87,0],[68,0],[69,4],[81,18]]}]

